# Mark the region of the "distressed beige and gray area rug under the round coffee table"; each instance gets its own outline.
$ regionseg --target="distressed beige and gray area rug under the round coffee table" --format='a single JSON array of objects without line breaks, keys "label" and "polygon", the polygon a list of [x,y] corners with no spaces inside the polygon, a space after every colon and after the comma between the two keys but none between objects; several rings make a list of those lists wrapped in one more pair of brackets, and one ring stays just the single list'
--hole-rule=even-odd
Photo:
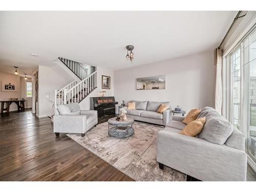
[{"label": "distressed beige and gray area rug under the round coffee table", "polygon": [[68,136],[135,181],[185,181],[185,174],[167,166],[164,170],[158,167],[156,138],[163,128],[137,121],[133,127],[134,135],[123,139],[108,137],[108,122],[93,127],[84,137]]}]

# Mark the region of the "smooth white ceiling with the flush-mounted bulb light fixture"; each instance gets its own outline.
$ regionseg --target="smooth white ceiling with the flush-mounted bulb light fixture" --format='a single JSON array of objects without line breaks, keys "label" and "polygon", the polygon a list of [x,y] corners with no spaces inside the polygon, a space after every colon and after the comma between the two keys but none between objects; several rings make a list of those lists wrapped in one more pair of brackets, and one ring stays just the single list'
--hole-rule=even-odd
[{"label": "smooth white ceiling with the flush-mounted bulb light fixture", "polygon": [[[0,70],[64,57],[118,70],[214,50],[237,11],[0,11]],[[134,45],[134,60],[125,58]],[[31,54],[37,54],[33,57]]]}]

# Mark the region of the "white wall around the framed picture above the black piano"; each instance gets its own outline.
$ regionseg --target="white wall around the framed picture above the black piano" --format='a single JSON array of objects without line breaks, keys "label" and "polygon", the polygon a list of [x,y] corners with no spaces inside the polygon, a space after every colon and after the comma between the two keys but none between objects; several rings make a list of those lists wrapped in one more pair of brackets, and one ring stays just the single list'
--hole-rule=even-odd
[{"label": "white wall around the framed picture above the black piano", "polygon": [[[101,89],[101,75],[110,76],[110,89]],[[106,91],[104,96],[114,96],[114,71],[97,67],[97,89],[79,103],[81,110],[90,110],[90,97],[100,97],[101,91]]]}]

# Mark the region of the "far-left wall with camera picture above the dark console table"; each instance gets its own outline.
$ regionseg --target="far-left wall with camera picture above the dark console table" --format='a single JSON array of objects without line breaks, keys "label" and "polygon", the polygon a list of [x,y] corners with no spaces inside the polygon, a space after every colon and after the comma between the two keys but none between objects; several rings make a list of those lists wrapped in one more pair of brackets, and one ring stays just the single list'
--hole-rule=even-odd
[{"label": "far-left wall with camera picture above the dark console table", "polygon": [[[0,81],[1,86],[2,83],[10,82],[10,83],[16,83],[16,92],[4,92],[0,88],[0,100],[9,100],[10,98],[19,98],[20,99],[20,79],[18,75],[9,74],[5,72],[0,71]],[[0,104],[1,105],[1,104]],[[1,107],[1,106],[0,106]],[[6,105],[5,105],[6,107]],[[17,105],[15,103],[12,103],[10,105],[10,111],[17,111]]]}]

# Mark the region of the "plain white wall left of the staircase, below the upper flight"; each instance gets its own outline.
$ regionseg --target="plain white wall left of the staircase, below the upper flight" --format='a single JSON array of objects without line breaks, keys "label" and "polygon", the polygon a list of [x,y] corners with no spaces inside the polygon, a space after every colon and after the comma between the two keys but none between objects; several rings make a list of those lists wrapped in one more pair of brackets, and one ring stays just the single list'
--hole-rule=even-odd
[{"label": "plain white wall left of the staircase, below the upper flight", "polygon": [[[38,68],[38,117],[46,117],[54,114],[49,100],[54,102],[54,90],[65,87],[74,79],[58,65],[53,67],[39,66]],[[37,110],[36,110],[37,111]]]}]

